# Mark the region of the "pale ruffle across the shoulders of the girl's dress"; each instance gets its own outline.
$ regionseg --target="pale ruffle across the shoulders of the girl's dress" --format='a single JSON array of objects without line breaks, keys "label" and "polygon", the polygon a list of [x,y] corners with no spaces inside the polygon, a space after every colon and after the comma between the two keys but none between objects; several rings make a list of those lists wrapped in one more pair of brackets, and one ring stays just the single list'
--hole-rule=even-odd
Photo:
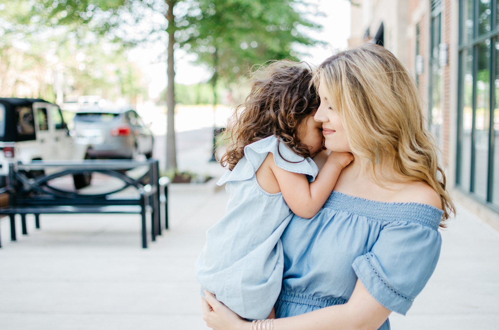
[{"label": "pale ruffle across the shoulders of the girl's dress", "polygon": [[308,181],[315,180],[319,168],[309,157],[296,155],[284,143],[278,143],[275,136],[256,141],[245,147],[245,157],[243,157],[234,169],[227,170],[217,182],[222,185],[228,181],[243,181],[253,177],[256,170],[263,163],[268,153],[272,153],[275,165],[289,172],[306,174]]}]

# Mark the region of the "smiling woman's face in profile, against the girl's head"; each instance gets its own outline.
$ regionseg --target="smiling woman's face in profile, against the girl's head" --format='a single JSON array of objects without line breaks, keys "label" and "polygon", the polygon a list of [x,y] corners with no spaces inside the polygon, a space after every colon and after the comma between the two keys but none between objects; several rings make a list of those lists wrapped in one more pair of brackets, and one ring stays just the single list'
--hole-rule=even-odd
[{"label": "smiling woman's face in profile, against the girl's head", "polygon": [[320,105],[314,119],[322,123],[322,134],[324,134],[325,138],[324,146],[330,151],[351,152],[341,118],[338,112],[329,104],[323,84],[319,84],[318,92]]}]

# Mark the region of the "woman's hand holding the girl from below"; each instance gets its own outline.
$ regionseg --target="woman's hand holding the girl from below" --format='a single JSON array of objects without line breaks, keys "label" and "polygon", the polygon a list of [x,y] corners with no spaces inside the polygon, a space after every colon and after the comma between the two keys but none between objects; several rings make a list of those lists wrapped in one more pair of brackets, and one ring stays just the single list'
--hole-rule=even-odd
[{"label": "woman's hand holding the girl from below", "polygon": [[206,299],[201,297],[203,320],[213,330],[250,330],[251,323],[231,311],[215,296],[205,290]]}]

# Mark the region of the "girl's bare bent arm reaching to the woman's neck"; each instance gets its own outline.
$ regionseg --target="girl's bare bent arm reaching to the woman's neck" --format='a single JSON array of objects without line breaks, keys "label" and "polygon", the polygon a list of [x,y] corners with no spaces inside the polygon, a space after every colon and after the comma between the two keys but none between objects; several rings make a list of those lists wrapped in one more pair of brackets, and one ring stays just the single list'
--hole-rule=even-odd
[{"label": "girl's bare bent arm reaching to the woman's neck", "polygon": [[282,197],[291,211],[302,218],[311,218],[317,214],[333,191],[341,170],[353,161],[350,153],[331,152],[315,180],[309,183],[306,175],[280,168],[275,165],[272,155],[269,156],[269,166]]}]

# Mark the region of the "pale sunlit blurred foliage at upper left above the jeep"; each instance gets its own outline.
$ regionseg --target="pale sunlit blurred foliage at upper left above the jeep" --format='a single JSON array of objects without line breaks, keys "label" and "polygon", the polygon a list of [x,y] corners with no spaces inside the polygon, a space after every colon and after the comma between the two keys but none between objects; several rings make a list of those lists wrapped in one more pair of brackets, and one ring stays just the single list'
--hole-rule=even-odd
[{"label": "pale sunlit blurred foliage at upper left above the jeep", "polygon": [[[88,24],[92,14],[75,16],[82,5],[96,10],[90,2],[0,0],[1,95],[16,96],[16,84],[36,80],[38,96],[55,101],[52,75],[59,71],[67,78],[65,94],[106,98],[145,94],[138,69],[128,62],[124,46],[92,30]],[[101,2],[108,6],[117,3]],[[56,25],[59,22],[67,25]]]}]

